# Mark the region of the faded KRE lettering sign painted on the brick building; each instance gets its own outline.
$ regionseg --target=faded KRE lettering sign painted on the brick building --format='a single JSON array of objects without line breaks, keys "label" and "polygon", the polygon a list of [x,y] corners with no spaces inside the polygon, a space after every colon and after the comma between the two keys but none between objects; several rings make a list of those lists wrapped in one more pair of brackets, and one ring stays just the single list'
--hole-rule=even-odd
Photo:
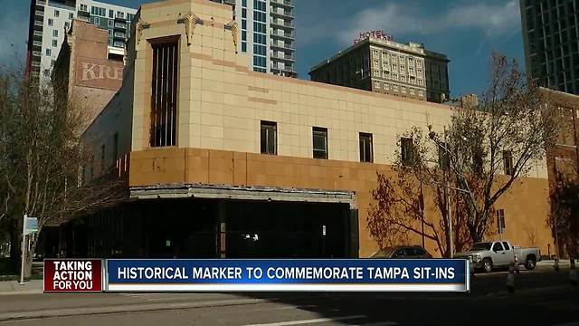
[{"label": "faded KRE lettering sign painted on the brick building", "polygon": [[123,62],[78,57],[75,65],[77,86],[119,90],[123,80]]}]

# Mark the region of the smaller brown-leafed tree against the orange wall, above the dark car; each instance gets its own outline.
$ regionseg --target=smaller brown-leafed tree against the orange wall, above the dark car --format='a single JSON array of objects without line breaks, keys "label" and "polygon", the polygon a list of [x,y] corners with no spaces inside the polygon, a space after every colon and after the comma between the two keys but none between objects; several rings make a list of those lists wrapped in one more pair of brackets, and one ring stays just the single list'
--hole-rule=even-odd
[{"label": "smaller brown-leafed tree against the orange wall, above the dark car", "polygon": [[413,128],[400,139],[399,149],[394,151],[394,176],[377,172],[374,200],[368,210],[370,235],[381,247],[403,243],[415,235],[422,237],[422,245],[425,240],[432,241],[441,255],[450,256],[448,207],[454,246],[460,250],[470,244],[464,201],[452,194],[446,196],[445,158],[432,152],[422,129]]}]

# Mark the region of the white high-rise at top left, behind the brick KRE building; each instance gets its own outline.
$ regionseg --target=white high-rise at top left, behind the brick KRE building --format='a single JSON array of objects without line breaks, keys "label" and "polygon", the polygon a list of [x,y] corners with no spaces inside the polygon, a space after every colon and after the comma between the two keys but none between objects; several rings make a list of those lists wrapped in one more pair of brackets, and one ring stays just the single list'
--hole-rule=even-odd
[{"label": "white high-rise at top left, behind the brick KRE building", "polygon": [[109,53],[124,54],[130,24],[137,10],[90,0],[32,0],[26,72],[33,79],[48,78],[64,35],[74,18],[108,30]]}]

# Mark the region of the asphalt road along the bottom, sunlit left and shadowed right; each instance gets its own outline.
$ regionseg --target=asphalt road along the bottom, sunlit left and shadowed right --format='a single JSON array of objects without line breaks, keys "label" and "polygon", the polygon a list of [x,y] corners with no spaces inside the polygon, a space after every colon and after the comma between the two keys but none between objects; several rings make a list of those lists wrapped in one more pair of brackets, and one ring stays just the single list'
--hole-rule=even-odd
[{"label": "asphalt road along the bottom, sunlit left and shadowed right", "polygon": [[[470,293],[119,293],[0,296],[7,325],[579,326],[567,273],[477,274]],[[509,322],[511,321],[511,322]]]}]

